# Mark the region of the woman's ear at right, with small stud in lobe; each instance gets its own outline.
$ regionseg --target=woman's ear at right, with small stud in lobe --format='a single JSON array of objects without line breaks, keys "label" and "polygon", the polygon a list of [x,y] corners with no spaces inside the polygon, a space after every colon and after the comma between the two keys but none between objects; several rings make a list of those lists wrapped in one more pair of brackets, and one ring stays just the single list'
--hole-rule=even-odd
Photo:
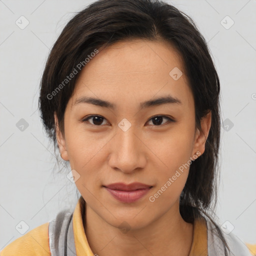
[{"label": "woman's ear at right, with small stud in lobe", "polygon": [[198,153],[198,155],[203,154],[205,150],[205,142],[208,137],[211,124],[211,111],[209,111],[204,117],[201,118],[200,123],[202,131],[200,132],[198,129],[196,129],[193,148],[193,152],[200,152],[200,154]]}]

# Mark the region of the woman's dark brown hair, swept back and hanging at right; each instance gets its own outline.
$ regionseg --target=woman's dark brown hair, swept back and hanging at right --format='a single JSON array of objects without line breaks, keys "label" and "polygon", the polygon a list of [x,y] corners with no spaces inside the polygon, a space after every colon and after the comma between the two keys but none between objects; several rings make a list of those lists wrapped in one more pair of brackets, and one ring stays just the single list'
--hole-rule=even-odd
[{"label": "woman's dark brown hair, swept back and hanging at right", "polygon": [[47,135],[56,149],[53,113],[56,111],[59,128],[64,132],[65,107],[78,77],[75,75],[65,84],[66,76],[74,69],[79,73],[79,63],[86,68],[85,58],[95,49],[125,39],[160,39],[173,45],[182,57],[182,71],[193,93],[195,123],[199,130],[200,119],[211,111],[205,151],[190,164],[188,178],[180,195],[180,214],[187,222],[193,222],[201,214],[206,215],[225,244],[226,254],[227,244],[223,234],[207,213],[215,208],[217,198],[219,78],[205,39],[185,13],[160,0],[98,0],[76,13],[54,43],[41,78],[39,109]]}]

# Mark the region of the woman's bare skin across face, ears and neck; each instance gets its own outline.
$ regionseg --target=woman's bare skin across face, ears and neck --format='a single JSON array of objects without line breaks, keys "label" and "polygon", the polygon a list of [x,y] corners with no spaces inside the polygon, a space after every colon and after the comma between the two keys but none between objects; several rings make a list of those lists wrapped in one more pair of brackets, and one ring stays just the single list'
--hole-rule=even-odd
[{"label": "woman's bare skin across face, ears and neck", "polygon": [[[210,112],[201,119],[202,132],[195,128],[192,92],[184,72],[178,80],[169,75],[174,67],[183,69],[180,55],[165,41],[115,42],[82,69],[64,113],[64,133],[55,115],[61,157],[80,175],[75,184],[86,201],[86,237],[100,256],[189,254],[193,224],[179,213],[189,168],[154,202],[148,199],[196,151],[204,152],[210,128]],[[81,95],[108,100],[116,109],[75,105]],[[140,102],[163,95],[175,96],[182,104],[139,110]],[[80,121],[91,114],[104,119]],[[163,117],[157,124],[151,119],[155,115],[176,121]],[[131,123],[127,131],[118,127],[123,118]],[[102,187],[135,181],[153,187],[132,203],[116,200]],[[129,227],[125,233],[118,228],[123,221]]]}]

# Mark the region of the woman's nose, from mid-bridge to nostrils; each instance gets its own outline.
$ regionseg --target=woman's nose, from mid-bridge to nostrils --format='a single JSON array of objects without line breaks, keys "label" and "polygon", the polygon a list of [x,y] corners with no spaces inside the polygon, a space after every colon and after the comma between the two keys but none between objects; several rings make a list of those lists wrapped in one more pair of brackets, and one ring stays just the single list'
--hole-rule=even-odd
[{"label": "woman's nose, from mid-bridge to nostrils", "polygon": [[117,129],[110,144],[109,165],[115,170],[132,172],[145,167],[146,146],[130,127],[127,131]]}]

